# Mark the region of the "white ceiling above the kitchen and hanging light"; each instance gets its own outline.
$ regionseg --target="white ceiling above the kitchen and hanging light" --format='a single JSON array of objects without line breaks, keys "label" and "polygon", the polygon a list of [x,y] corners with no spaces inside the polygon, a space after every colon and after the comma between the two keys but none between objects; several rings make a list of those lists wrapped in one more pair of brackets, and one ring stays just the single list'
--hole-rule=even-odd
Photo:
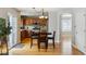
[{"label": "white ceiling above the kitchen and hanging light", "polygon": [[[16,8],[19,11],[21,11],[21,15],[27,15],[27,16],[38,16],[42,14],[44,12],[53,12],[57,11],[57,8]],[[46,14],[48,15],[48,14]]]}]

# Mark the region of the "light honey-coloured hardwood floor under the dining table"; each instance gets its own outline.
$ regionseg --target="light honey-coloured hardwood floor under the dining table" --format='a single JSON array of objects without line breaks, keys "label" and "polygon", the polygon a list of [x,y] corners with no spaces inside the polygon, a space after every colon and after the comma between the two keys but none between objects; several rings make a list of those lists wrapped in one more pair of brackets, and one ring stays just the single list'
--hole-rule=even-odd
[{"label": "light honey-coloured hardwood floor under the dining table", "polygon": [[[37,42],[34,40],[34,46],[30,49],[29,39],[25,39],[22,41],[23,48],[13,48],[9,51],[10,55],[63,55],[62,48],[60,44],[56,44],[56,49],[52,48],[52,43],[49,43],[47,52],[45,49],[40,49],[38,51]],[[83,55],[77,49],[72,48],[72,55]]]}]

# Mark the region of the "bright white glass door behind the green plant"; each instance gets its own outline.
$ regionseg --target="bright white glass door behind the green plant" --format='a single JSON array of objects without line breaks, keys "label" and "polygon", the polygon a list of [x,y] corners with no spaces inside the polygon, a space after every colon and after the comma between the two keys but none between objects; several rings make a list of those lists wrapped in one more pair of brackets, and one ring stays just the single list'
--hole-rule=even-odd
[{"label": "bright white glass door behind the green plant", "polygon": [[10,23],[11,26],[11,34],[9,35],[8,46],[9,49],[11,49],[14,44],[17,43],[17,18],[9,13],[8,22]]}]

